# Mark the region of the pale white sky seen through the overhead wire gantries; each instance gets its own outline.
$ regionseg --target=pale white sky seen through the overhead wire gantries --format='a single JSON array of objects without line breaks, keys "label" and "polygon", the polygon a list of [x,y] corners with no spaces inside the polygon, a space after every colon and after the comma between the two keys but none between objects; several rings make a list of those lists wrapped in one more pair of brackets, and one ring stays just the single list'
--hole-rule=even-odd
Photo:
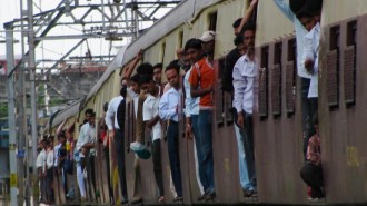
[{"label": "pale white sky seen through the overhead wire gantries", "polygon": [[[4,22],[13,21],[14,19],[20,18],[20,1],[21,0],[2,0],[1,7],[0,7],[0,41],[6,40],[6,33],[3,29]],[[23,8],[27,8],[27,0],[23,1]],[[92,4],[100,4],[102,0],[79,0],[80,4],[83,3],[92,3]],[[103,0],[105,3],[112,0]],[[130,0],[127,0],[129,2]],[[147,0],[146,0],[147,1]],[[47,11],[54,9],[61,0],[33,0],[33,13],[39,13],[41,11]],[[116,10],[116,8],[113,8]],[[78,10],[79,12],[73,12],[75,17],[81,17],[85,13],[85,10]],[[110,12],[108,9],[105,9],[106,12]],[[166,11],[158,12],[155,14],[155,17],[160,18],[162,17]],[[117,10],[115,11],[117,12]],[[147,11],[147,13],[149,10]],[[61,20],[70,20],[68,19],[70,17],[63,17]],[[122,17],[119,17],[122,18]],[[92,13],[91,17],[89,17],[89,20],[101,20],[99,13]],[[121,27],[120,24],[113,24]],[[139,27],[149,27],[150,24],[145,23],[140,24]],[[86,26],[82,28],[81,26],[62,26],[62,27],[56,27],[52,29],[48,35],[58,35],[58,36],[65,36],[65,35],[81,35],[82,29],[90,29],[91,26]],[[21,57],[22,48],[21,48],[21,37],[20,32],[14,32],[14,39],[19,40],[19,43],[14,43],[14,55],[16,57]],[[27,40],[27,39],[26,39]],[[126,45],[130,39],[123,38],[123,41],[107,41],[103,38],[91,38],[88,39],[88,43],[82,43],[78,49],[76,49],[70,56],[85,56],[85,53],[88,51],[88,48],[90,49],[90,52],[92,56],[103,56],[103,55],[116,55],[123,45]],[[36,60],[40,59],[60,59],[63,55],[66,55],[77,42],[79,42],[80,39],[77,40],[48,40],[42,41],[37,48],[36,48]],[[28,45],[24,45],[24,51],[28,51]],[[69,57],[70,57],[69,56]],[[6,43],[0,43],[0,59],[6,58]],[[68,58],[67,58],[68,59]],[[111,59],[112,60],[112,59]],[[39,67],[49,67],[52,63],[41,62]]]}]

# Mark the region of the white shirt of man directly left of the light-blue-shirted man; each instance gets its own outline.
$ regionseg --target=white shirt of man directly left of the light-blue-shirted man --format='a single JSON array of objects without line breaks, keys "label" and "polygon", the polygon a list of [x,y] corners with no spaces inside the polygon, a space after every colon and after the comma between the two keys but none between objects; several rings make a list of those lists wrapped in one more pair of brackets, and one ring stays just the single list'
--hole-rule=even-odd
[{"label": "white shirt of man directly left of the light-blue-shirted man", "polygon": [[[150,94],[147,95],[147,99],[142,105],[143,121],[149,121],[150,119],[152,119],[158,115],[159,100],[160,100],[159,95],[158,97],[155,97]],[[151,128],[152,140],[155,141],[156,139],[160,139],[160,136],[161,136],[161,125],[160,121],[158,120],[157,124],[153,125]]]}]

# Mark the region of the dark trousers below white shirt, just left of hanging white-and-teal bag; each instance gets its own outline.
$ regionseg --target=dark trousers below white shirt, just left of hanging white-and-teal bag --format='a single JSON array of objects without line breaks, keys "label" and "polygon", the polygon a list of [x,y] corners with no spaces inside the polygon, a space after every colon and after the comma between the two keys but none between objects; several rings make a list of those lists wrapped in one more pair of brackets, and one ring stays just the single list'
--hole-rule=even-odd
[{"label": "dark trousers below white shirt, just left of hanging white-and-teal bag", "polygon": [[122,192],[122,197],[128,199],[128,189],[126,184],[126,164],[125,164],[125,138],[123,131],[116,129],[115,134],[115,149],[117,156],[117,168],[119,170],[120,187]]}]

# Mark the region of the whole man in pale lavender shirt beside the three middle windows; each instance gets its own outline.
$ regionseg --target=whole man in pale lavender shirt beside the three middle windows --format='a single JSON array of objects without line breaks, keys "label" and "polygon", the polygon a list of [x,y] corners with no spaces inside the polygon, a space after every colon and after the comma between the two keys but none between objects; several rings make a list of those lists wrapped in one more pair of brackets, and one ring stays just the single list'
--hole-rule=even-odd
[{"label": "whole man in pale lavender shirt beside the three middle windows", "polygon": [[258,85],[259,65],[255,57],[255,26],[246,24],[244,27],[244,46],[247,53],[238,59],[234,67],[234,107],[237,111],[235,122],[244,140],[245,166],[244,173],[245,188],[244,196],[257,196],[257,182],[255,169],[254,151],[254,128],[252,111],[257,105],[256,87]]}]

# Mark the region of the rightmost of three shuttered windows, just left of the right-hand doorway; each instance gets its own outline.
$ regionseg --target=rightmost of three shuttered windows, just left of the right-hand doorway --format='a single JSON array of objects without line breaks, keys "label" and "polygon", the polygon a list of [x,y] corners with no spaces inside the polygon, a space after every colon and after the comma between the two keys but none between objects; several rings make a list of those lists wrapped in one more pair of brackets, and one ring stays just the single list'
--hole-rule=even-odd
[{"label": "rightmost of three shuttered windows, just left of the right-hand doorway", "polygon": [[286,109],[287,117],[295,112],[296,102],[296,77],[297,77],[297,60],[296,60],[296,39],[292,38],[288,41],[288,53],[286,65]]}]

